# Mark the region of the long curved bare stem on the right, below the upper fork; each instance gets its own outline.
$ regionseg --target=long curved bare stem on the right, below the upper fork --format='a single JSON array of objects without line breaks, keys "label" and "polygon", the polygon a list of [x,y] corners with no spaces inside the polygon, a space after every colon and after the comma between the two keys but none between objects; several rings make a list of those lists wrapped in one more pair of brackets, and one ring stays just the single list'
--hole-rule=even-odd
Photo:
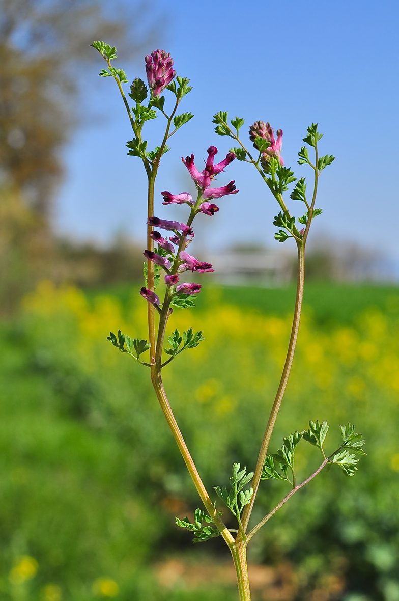
[{"label": "long curved bare stem on the right, below the upper fork", "polygon": [[288,344],[287,356],[285,358],[284,368],[282,370],[281,379],[276,394],[275,401],[273,403],[272,410],[270,411],[269,421],[267,422],[266,430],[263,436],[263,441],[259,451],[258,461],[254,472],[254,479],[252,480],[252,487],[254,488],[254,494],[252,495],[251,502],[246,505],[243,511],[242,523],[246,531],[248,528],[249,518],[251,517],[252,508],[254,507],[255,498],[258,492],[260,483],[260,477],[262,474],[264,460],[266,459],[267,449],[269,448],[270,438],[272,436],[273,428],[276,423],[278,412],[281,406],[281,401],[284,397],[285,388],[287,388],[288,377],[290,376],[291,366],[294,359],[294,352],[296,347],[296,341],[299,331],[300,313],[302,310],[302,299],[303,299],[303,285],[305,283],[305,244],[302,240],[297,241],[298,248],[298,278],[296,288],[296,300],[294,309],[294,318],[291,328],[290,343]]}]

